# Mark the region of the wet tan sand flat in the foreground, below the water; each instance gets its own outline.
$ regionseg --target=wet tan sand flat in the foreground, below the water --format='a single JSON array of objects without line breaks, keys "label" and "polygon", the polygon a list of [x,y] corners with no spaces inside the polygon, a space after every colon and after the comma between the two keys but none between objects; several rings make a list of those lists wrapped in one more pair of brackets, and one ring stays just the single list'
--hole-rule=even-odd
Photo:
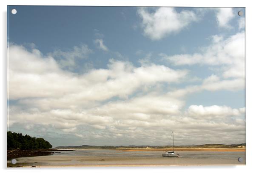
[{"label": "wet tan sand flat in the foreground, below the water", "polygon": [[17,164],[7,167],[63,167],[63,166],[187,166],[187,165],[245,165],[237,159],[198,159],[178,157],[94,157],[94,156],[38,156],[21,157]]}]

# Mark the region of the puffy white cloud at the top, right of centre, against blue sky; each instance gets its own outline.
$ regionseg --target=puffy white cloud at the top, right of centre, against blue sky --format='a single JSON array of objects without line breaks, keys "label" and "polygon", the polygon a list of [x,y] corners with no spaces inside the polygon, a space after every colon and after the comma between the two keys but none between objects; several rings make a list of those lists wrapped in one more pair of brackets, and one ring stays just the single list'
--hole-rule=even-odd
[{"label": "puffy white cloud at the top, right of centre, against blue sky", "polygon": [[160,40],[170,34],[178,33],[191,22],[198,20],[193,11],[177,12],[172,7],[160,7],[154,12],[149,12],[147,8],[139,8],[138,14],[142,18],[145,36],[152,40]]}]

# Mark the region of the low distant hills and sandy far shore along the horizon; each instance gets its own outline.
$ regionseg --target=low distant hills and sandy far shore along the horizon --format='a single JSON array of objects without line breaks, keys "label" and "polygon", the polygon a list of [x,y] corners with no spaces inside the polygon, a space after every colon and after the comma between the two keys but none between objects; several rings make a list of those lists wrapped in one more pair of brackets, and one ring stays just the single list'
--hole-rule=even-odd
[{"label": "low distant hills and sandy far shore along the horizon", "polygon": [[[118,149],[118,148],[172,148],[172,146],[57,146],[56,149]],[[241,144],[204,144],[193,146],[175,146],[175,148],[245,148],[245,143]]]}]

